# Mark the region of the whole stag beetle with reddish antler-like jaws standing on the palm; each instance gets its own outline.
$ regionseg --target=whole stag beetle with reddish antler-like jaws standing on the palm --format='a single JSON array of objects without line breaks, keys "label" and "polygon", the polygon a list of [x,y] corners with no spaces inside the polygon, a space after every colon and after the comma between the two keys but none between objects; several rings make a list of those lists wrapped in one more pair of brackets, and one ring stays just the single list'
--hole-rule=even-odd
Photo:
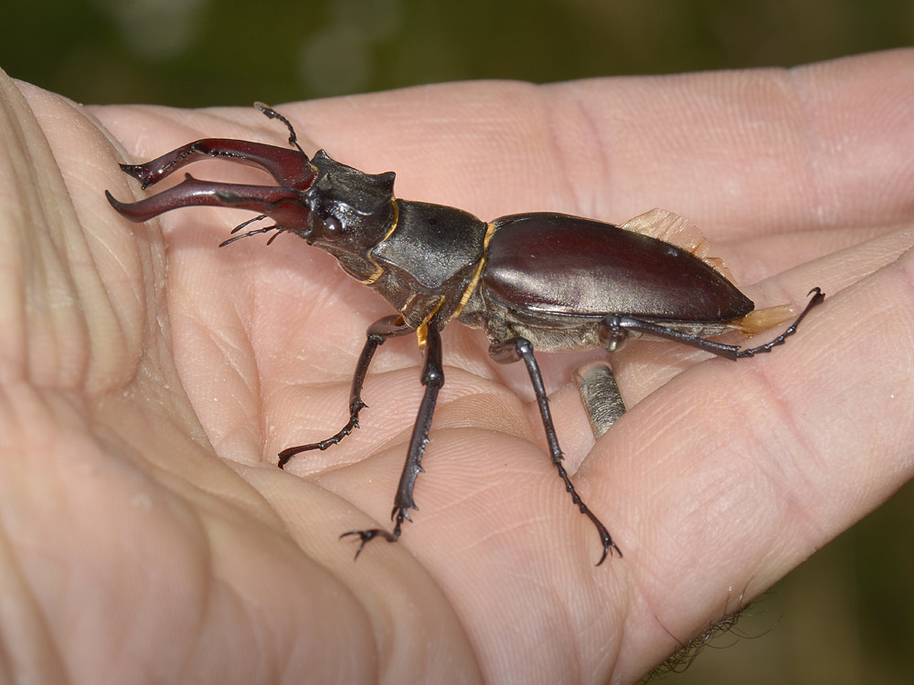
[{"label": "whole stag beetle with reddish antler-like jaws standing on the palm", "polygon": [[[534,350],[570,351],[600,347],[618,350],[632,335],[649,335],[691,345],[731,360],[771,351],[796,331],[813,306],[824,299],[818,288],[792,325],[758,347],[739,349],[707,340],[730,330],[755,331],[785,321],[759,323],[761,310],[743,295],[709,259],[665,240],[644,235],[654,223],[652,213],[622,227],[579,216],[553,213],[517,214],[485,222],[460,209],[401,200],[394,196],[394,173],[365,174],[331,159],[323,150],[309,159],[299,145],[292,123],[257,103],[271,119],[289,131],[290,148],[260,142],[207,138],[190,142],[143,164],[122,164],[124,173],[143,184],[156,184],[188,163],[207,157],[259,166],[279,185],[245,185],[199,181],[190,174],[158,195],[122,203],[107,192],[114,209],[142,222],[177,207],[215,205],[259,213],[236,227],[270,217],[275,223],[230,237],[220,247],[260,233],[276,231],[303,237],[339,260],[345,272],[377,290],[399,314],[376,321],[356,364],[349,396],[349,420],[334,436],[321,442],[282,450],[282,468],[293,456],[325,449],[358,427],[366,405],[362,386],[377,346],[389,338],[415,332],[425,351],[421,383],[425,385],[419,414],[409,441],[391,520],[392,532],[382,529],[345,532],[360,543],[381,537],[399,539],[404,521],[411,521],[416,478],[428,442],[431,417],[444,373],[441,329],[460,321],[484,329],[489,353],[502,364],[523,361],[533,383],[546,429],[549,454],[558,475],[579,511],[600,533],[600,564],[612,550],[622,551],[588,509],[562,466],[556,429]],[[656,211],[656,210],[655,210]],[[633,228],[633,229],[632,229]],[[605,375],[605,374],[604,374]],[[600,401],[584,392],[605,388],[605,382],[582,383],[591,415]],[[604,378],[605,381],[605,378]],[[614,384],[609,392],[613,391]],[[622,411],[621,402],[605,424]]]}]

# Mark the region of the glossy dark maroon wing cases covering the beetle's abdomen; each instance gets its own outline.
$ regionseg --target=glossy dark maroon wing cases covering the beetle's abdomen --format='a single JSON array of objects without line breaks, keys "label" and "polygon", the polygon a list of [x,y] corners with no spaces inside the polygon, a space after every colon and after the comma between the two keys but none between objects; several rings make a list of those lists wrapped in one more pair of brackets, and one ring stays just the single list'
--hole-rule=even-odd
[{"label": "glossy dark maroon wing cases covering the beetle's abdomen", "polygon": [[486,296],[573,317],[608,313],[665,321],[728,321],[754,305],[675,245],[559,214],[503,216],[486,252]]}]

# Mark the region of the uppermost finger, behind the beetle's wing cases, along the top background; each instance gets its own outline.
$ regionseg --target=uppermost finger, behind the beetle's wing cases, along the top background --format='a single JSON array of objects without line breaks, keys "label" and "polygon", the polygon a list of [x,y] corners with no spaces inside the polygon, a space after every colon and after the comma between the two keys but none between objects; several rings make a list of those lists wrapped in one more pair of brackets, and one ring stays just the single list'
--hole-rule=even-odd
[{"label": "uppermost finger, behind the beetle's wing cases, along the top background", "polygon": [[[601,143],[590,156],[603,155],[608,171],[590,184],[594,204],[631,214],[661,197],[712,235],[717,227],[744,235],[811,219],[833,227],[909,216],[912,62],[914,50],[901,50],[792,70],[559,88],[580,91]],[[587,159],[575,128],[558,127],[572,132],[560,142]]]}]

